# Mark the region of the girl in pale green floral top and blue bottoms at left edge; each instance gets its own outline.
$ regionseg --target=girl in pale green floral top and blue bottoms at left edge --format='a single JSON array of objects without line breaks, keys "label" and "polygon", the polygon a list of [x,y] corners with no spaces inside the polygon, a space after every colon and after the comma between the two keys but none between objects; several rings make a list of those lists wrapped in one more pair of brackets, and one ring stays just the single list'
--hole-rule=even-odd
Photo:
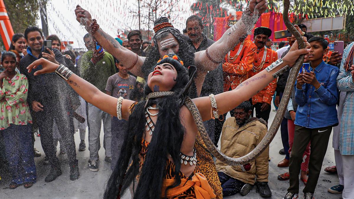
[{"label": "girl in pale green floral top and blue bottoms at left edge", "polygon": [[5,70],[0,73],[0,130],[12,174],[10,188],[15,189],[21,184],[29,188],[36,182],[36,166],[32,118],[27,104],[28,81],[25,75],[15,71],[15,53],[2,53],[1,64]]}]

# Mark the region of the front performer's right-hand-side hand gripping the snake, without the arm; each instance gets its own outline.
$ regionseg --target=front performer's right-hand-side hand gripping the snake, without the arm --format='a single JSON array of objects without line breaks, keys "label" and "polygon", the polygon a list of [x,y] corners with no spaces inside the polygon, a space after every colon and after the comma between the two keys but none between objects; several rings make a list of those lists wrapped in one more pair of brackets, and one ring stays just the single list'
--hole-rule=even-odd
[{"label": "front performer's right-hand-side hand gripping the snake, without the arm", "polygon": [[282,60],[290,67],[292,67],[295,64],[296,59],[299,58],[300,55],[304,54],[305,62],[307,61],[307,57],[309,56],[311,45],[309,44],[309,42],[307,42],[306,37],[302,37],[302,38],[304,39],[305,42],[305,48],[299,49],[299,45],[297,41],[295,41],[294,44],[291,46],[289,52],[286,53],[284,58],[282,58]]}]

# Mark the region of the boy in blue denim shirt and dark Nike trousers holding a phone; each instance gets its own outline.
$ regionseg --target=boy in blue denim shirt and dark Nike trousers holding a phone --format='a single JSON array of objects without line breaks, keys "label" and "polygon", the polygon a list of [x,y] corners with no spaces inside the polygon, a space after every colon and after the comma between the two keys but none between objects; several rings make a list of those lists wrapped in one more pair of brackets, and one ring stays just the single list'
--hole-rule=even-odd
[{"label": "boy in blue denim shirt and dark Nike trousers holding a phone", "polygon": [[295,100],[298,103],[295,133],[290,156],[290,187],[284,199],[298,198],[300,165],[303,153],[311,142],[309,177],[303,189],[304,198],[314,198],[318,177],[325,157],[332,127],[338,124],[336,79],[339,69],[326,64],[322,57],[328,51],[328,42],[320,37],[308,40],[310,72],[297,77]]}]

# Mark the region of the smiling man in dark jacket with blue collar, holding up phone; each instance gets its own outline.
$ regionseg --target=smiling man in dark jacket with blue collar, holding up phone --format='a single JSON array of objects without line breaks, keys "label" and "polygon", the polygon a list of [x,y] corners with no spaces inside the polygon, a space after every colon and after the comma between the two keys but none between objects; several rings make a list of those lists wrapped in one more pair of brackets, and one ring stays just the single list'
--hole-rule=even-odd
[{"label": "smiling man in dark jacket with blue collar, holding up phone", "polygon": [[68,97],[71,87],[55,73],[34,76],[33,73],[42,69],[42,66],[38,66],[31,73],[28,73],[26,69],[29,64],[41,57],[53,63],[65,64],[63,55],[57,49],[50,49],[50,41],[47,42],[49,48],[45,48],[46,51],[44,50],[43,34],[38,27],[28,27],[24,32],[24,36],[29,47],[27,48],[28,54],[19,63],[20,72],[28,78],[29,92],[27,101],[37,120],[42,148],[51,164],[51,169],[45,181],[51,182],[62,175],[59,159],[56,156],[56,150],[53,145],[52,129],[54,119],[63,138],[64,147],[67,150],[70,180],[77,180],[80,174],[75,151],[74,122],[73,117],[68,114],[72,111],[70,104],[67,100],[64,100]]}]

